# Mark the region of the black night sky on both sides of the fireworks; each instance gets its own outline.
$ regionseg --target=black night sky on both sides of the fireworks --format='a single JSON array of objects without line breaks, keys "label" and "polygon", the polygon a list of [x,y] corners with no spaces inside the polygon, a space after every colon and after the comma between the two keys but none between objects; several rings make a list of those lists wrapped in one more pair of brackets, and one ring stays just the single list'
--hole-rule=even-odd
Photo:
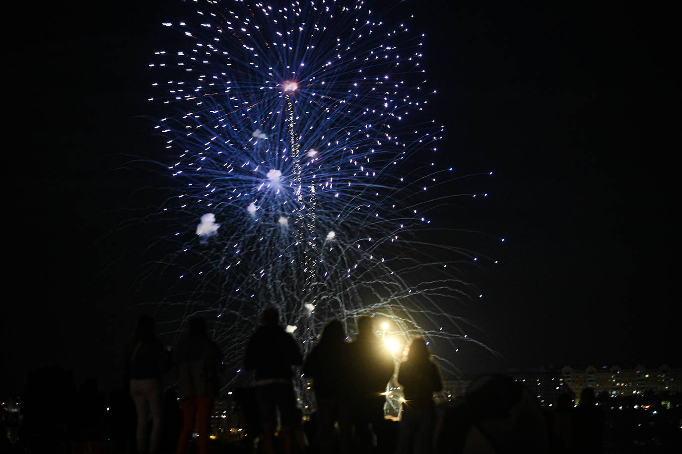
[{"label": "black night sky on both sides of the fireworks", "polygon": [[[112,234],[152,197],[134,192],[153,182],[121,171],[121,155],[164,159],[143,117],[153,115],[147,63],[175,9],[143,3],[39,3],[16,12],[25,25],[5,38],[0,396],[50,363],[104,386],[118,373],[138,313],[132,264],[153,235]],[[484,298],[462,309],[503,360],[464,354],[462,369],[674,363],[679,145],[668,138],[679,89],[665,12],[410,4],[439,89],[432,116],[447,127],[441,160],[494,172],[488,199],[456,216],[505,238],[490,250],[500,264],[472,276]]]}]

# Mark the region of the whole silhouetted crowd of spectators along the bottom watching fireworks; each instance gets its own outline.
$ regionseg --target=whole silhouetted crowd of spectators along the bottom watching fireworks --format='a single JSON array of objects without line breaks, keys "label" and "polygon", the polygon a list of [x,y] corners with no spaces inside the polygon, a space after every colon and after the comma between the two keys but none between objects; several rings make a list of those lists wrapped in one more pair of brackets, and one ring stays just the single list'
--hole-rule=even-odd
[{"label": "whole silhouetted crowd of spectators along the bottom watching fireworks", "polygon": [[[41,388],[40,375],[46,371],[29,376],[23,406],[24,435],[30,442],[26,451],[16,452],[602,452],[604,415],[591,389],[582,393],[578,407],[562,395],[552,412],[543,413],[520,382],[486,375],[472,382],[464,397],[436,406],[433,396],[443,384],[426,340],[412,339],[404,359],[396,363],[376,335],[373,317],[360,316],[356,324],[357,335],[349,340],[343,324],[332,320],[303,358],[297,341],[280,325],[277,309],[265,309],[243,358],[244,369],[253,373],[253,386],[235,390],[250,444],[226,446],[210,440],[223,358],[206,321],[188,320],[185,334],[170,352],[156,336],[153,318],[140,317],[125,351],[125,386],[110,395],[106,413],[104,394],[88,380],[71,394],[72,414],[48,421],[38,411],[39,401],[66,406]],[[297,367],[316,400],[316,410],[305,422],[297,404]],[[54,386],[73,388],[68,374],[49,373]],[[174,377],[175,386],[164,386],[168,376]],[[389,392],[402,395],[400,418],[385,416]],[[106,433],[105,426],[111,428]]]}]

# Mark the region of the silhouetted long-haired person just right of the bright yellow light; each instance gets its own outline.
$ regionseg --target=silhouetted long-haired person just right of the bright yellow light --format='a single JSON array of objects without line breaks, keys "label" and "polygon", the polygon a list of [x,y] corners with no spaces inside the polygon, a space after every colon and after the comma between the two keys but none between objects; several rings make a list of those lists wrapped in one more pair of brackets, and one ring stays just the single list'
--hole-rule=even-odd
[{"label": "silhouetted long-haired person just right of the bright yellow light", "polygon": [[405,399],[398,454],[429,454],[436,418],[433,393],[443,389],[443,382],[423,337],[411,342],[407,359],[400,364],[398,383]]}]

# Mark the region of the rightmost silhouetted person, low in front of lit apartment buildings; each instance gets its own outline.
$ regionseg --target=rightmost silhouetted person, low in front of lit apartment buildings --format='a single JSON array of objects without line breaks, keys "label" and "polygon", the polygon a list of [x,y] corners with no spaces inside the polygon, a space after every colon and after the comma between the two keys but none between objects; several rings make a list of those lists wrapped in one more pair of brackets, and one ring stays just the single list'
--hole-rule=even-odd
[{"label": "rightmost silhouetted person, low in front of lit apartment buildings", "polygon": [[584,388],[580,403],[574,411],[572,451],[576,453],[601,453],[604,433],[604,413],[595,405],[595,392]]}]

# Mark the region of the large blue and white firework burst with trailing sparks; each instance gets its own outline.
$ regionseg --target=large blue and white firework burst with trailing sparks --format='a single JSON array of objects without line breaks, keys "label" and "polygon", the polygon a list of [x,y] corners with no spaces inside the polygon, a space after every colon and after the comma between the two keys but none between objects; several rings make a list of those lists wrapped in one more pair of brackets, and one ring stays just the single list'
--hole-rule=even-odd
[{"label": "large blue and white firework burst with trailing sparks", "polygon": [[456,266],[471,256],[426,240],[429,189],[452,173],[431,161],[442,127],[425,119],[422,35],[363,1],[188,3],[186,22],[164,23],[176,47],[150,64],[168,113],[155,128],[177,156],[168,313],[216,320],[231,383],[268,304],[304,352],[360,313],[454,351],[451,304],[471,295]]}]

